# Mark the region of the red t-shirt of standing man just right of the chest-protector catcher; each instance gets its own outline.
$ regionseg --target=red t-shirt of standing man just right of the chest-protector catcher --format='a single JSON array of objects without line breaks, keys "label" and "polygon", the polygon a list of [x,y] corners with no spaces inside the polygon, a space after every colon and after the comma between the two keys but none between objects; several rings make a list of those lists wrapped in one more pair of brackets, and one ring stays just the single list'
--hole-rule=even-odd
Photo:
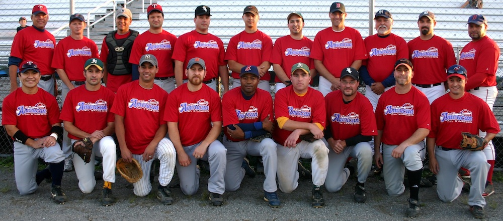
[{"label": "red t-shirt of standing man just right of the chest-protector catcher", "polygon": [[139,65],[140,58],[144,54],[152,54],[159,63],[159,72],[155,77],[174,77],[173,50],[177,37],[169,32],[162,30],[160,34],[152,34],[148,30],[134,40],[129,63]]}]

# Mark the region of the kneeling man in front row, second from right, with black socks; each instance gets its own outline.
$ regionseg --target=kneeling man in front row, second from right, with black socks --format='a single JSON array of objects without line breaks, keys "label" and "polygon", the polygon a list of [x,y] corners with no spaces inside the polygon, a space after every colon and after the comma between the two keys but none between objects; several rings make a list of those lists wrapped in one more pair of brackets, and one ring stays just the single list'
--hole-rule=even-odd
[{"label": "kneeling man in front row, second from right, with black socks", "polygon": [[375,112],[374,159],[383,168],[390,196],[404,192],[403,175],[407,171],[410,196],[406,215],[415,217],[420,213],[419,186],[426,154],[424,140],[430,132],[430,102],[423,92],[412,87],[412,63],[404,58],[394,66],[395,87],[381,95]]}]

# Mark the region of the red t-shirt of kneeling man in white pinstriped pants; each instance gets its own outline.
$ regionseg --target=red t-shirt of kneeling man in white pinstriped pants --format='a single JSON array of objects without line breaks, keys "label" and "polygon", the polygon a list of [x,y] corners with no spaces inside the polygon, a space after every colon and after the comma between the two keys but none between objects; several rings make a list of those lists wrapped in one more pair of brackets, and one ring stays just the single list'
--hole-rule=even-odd
[{"label": "red t-shirt of kneeling man in white pinstriped pants", "polygon": [[138,80],[127,83],[117,91],[112,113],[124,117],[125,138],[133,154],[143,154],[163,120],[167,92],[157,85],[144,89]]}]

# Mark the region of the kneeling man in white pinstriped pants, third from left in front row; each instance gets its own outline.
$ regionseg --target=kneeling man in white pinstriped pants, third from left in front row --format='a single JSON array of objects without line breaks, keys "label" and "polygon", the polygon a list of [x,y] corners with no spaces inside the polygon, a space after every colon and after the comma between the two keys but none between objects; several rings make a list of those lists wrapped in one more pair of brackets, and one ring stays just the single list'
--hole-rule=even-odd
[{"label": "kneeling man in white pinstriped pants, third from left in front row", "polygon": [[173,197],[167,186],[175,173],[177,153],[173,143],[166,138],[164,121],[167,92],[154,84],[159,66],[155,56],[145,54],[139,60],[139,80],[119,87],[111,112],[115,114],[115,133],[122,159],[136,159],[143,171],[138,182],[133,183],[137,196],[146,196],[152,190],[150,171],[153,159],[160,161],[157,198],[171,205]]}]

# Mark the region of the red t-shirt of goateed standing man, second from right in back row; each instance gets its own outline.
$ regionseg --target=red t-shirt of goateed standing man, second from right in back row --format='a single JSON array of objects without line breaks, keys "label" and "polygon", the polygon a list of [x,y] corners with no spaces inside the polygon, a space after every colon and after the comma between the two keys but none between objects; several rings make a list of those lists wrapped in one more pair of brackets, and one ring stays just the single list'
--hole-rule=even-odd
[{"label": "red t-shirt of goateed standing man, second from right in back row", "polygon": [[407,43],[408,58],[414,65],[413,84],[437,84],[445,82],[446,70],[456,64],[452,44],[439,37],[423,41],[420,37]]}]

